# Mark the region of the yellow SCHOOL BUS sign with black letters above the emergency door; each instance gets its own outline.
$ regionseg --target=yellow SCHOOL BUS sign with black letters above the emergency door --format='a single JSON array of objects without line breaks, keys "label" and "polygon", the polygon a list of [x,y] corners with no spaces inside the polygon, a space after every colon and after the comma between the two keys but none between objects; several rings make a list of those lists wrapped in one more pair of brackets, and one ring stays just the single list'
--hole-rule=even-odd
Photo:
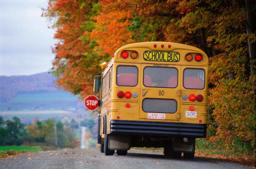
[{"label": "yellow SCHOOL BUS sign with black letters above the emergency door", "polygon": [[180,55],[178,52],[145,51],[143,53],[143,58],[147,61],[178,62]]}]

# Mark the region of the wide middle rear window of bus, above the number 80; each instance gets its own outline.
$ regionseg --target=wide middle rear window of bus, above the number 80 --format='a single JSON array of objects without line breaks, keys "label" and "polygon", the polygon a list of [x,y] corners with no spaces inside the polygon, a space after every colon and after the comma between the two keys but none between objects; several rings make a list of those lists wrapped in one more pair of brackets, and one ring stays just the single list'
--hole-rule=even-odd
[{"label": "wide middle rear window of bus, above the number 80", "polygon": [[146,87],[176,88],[178,70],[176,68],[146,67],[143,84]]}]

